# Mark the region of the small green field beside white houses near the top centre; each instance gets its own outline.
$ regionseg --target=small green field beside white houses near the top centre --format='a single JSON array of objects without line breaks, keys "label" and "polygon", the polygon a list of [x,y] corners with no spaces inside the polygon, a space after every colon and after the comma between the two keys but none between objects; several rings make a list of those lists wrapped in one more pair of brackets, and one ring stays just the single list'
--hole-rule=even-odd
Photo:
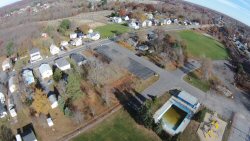
[{"label": "small green field beside white houses near the top centre", "polygon": [[107,24],[97,27],[95,31],[101,34],[101,38],[113,37],[115,34],[128,32],[128,27],[121,24]]}]

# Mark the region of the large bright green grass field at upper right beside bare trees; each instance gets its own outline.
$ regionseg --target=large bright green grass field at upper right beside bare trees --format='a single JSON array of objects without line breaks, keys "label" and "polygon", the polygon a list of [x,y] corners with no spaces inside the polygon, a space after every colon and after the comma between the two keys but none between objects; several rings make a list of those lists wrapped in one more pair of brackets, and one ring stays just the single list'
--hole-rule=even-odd
[{"label": "large bright green grass field at upper right beside bare trees", "polygon": [[224,46],[211,37],[193,31],[181,31],[178,34],[187,42],[188,53],[191,56],[205,56],[212,60],[223,60],[228,57]]}]

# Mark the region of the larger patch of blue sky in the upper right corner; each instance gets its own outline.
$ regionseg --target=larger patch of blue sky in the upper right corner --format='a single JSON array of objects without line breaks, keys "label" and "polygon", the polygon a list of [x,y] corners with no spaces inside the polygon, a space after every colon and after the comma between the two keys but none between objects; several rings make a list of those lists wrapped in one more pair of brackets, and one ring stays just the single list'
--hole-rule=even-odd
[{"label": "larger patch of blue sky in the upper right corner", "polygon": [[250,0],[185,0],[224,13],[250,26]]}]

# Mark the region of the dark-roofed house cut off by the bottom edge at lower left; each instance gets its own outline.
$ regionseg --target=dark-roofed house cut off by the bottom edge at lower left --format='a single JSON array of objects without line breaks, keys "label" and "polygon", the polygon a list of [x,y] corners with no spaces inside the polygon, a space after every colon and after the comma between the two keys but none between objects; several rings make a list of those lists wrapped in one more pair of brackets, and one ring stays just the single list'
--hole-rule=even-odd
[{"label": "dark-roofed house cut off by the bottom edge at lower left", "polygon": [[36,135],[33,131],[33,127],[29,127],[27,125],[26,127],[23,127],[23,129],[20,129],[19,131],[22,141],[37,141]]}]

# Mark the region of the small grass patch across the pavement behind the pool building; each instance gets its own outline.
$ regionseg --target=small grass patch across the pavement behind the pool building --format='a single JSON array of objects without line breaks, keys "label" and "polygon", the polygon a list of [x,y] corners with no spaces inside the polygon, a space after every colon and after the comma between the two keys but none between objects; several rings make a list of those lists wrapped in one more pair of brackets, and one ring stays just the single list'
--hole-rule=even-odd
[{"label": "small grass patch across the pavement behind the pool building", "polygon": [[184,77],[184,80],[204,92],[207,92],[210,89],[210,83],[208,81],[201,80],[196,71],[188,73]]}]

